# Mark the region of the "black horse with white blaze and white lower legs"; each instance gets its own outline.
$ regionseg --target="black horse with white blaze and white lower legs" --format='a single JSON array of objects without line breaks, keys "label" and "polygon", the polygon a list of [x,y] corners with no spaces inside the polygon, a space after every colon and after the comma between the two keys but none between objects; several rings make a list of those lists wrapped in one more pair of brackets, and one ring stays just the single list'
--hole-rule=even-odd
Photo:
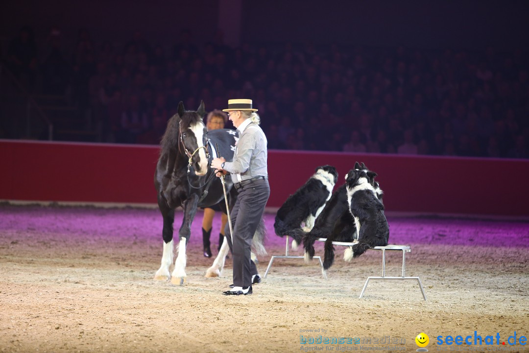
[{"label": "black horse with white blaze and white lower legs", "polygon": [[[209,166],[211,159],[217,157],[216,146],[222,157],[226,160],[233,159],[238,134],[228,129],[207,132],[202,120],[204,114],[204,102],[200,103],[196,112],[185,111],[184,104],[180,102],[178,114],[172,116],[167,123],[154,174],[158,207],[163,217],[163,256],[154,279],[166,280],[171,277],[173,284],[183,284],[187,276],[185,271],[186,244],[191,235],[191,222],[193,222],[197,207],[208,207],[220,203],[223,212],[226,211],[221,180],[214,175],[213,169]],[[230,206],[232,206],[236,201],[237,193],[232,187],[230,177],[225,178],[225,184]],[[184,209],[184,219],[178,231],[179,245],[175,269],[169,275],[169,267],[174,257],[172,225],[175,221],[175,208],[179,206]],[[224,241],[206,276],[220,275],[228,251],[229,246],[227,241]]]}]

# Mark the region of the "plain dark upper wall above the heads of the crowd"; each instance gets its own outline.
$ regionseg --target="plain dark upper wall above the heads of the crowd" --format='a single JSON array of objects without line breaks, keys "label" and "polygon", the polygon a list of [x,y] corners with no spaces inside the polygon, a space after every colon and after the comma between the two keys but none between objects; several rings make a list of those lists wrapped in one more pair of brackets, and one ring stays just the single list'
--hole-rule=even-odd
[{"label": "plain dark upper wall above the heads of the crowd", "polygon": [[[197,44],[211,40],[230,17],[218,18],[219,1],[5,1],[0,34],[5,42],[21,26],[45,32],[59,25],[75,38],[79,28],[98,40],[125,41],[141,31],[154,42],[176,41],[181,29]],[[526,47],[526,1],[243,1],[243,42],[313,41],[364,46],[499,50]]]}]

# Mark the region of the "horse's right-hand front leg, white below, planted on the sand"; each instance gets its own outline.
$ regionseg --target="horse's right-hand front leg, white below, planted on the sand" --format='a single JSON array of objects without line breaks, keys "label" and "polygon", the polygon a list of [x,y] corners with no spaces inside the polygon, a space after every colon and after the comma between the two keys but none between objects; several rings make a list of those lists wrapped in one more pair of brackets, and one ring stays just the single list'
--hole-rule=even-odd
[{"label": "horse's right-hand front leg, white below, planted on the sand", "polygon": [[186,247],[191,235],[191,223],[197,213],[198,195],[192,194],[184,202],[184,219],[178,232],[180,241],[178,243],[178,257],[175,261],[175,269],[172,271],[172,284],[183,285],[186,275]]}]

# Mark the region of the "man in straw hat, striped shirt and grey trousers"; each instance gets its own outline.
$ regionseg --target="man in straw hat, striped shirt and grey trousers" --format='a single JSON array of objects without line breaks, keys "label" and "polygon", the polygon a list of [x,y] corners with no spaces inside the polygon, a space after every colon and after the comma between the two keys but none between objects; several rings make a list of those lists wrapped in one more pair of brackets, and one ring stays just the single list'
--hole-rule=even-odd
[{"label": "man in straw hat, striped shirt and grey trousers", "polygon": [[[251,99],[230,99],[228,108],[223,111],[228,112],[233,126],[239,130],[233,161],[214,158],[211,162],[217,176],[231,174],[239,192],[233,210],[230,210],[233,239],[230,241],[226,237],[233,253],[233,288],[223,294],[248,295],[252,294],[252,284],[261,280],[250,258],[250,245],[270,196],[267,139],[259,127],[260,118]],[[229,230],[225,234],[229,234]]]}]

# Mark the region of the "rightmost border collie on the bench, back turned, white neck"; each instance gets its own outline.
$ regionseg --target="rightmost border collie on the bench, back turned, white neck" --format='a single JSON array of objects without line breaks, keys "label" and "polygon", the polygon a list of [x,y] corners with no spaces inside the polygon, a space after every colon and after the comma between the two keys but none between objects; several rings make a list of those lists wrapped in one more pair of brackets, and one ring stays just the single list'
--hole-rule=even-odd
[{"label": "rightmost border collie on the bench, back turned, white neck", "polygon": [[350,170],[345,185],[349,210],[358,233],[358,243],[344,252],[343,259],[351,261],[369,248],[388,245],[389,225],[384,205],[378,199],[365,170]]}]

